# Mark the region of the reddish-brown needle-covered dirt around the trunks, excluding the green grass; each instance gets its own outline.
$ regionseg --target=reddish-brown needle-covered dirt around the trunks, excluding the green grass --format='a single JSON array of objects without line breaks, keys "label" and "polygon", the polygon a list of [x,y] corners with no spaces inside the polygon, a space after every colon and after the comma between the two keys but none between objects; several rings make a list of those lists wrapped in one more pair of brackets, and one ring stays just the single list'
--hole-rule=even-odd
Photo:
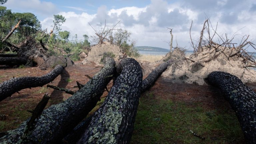
[{"label": "reddish-brown needle-covered dirt around the trunks, excluding the green grass", "polygon": [[[81,61],[75,63],[75,66],[66,68],[63,73],[50,84],[75,91],[78,90],[78,88],[72,87],[76,86],[76,81],[85,84],[89,81],[89,78],[87,78],[85,74],[93,76],[101,69],[100,67],[95,68],[97,66],[94,66],[94,64],[81,65]],[[12,77],[41,76],[48,73],[50,70],[51,69],[40,70],[37,67],[0,69],[0,82],[9,80]],[[146,76],[144,76],[144,78],[145,77]],[[110,82],[108,85],[109,89],[111,85]],[[248,86],[256,90],[255,83],[248,84]],[[224,109],[228,107],[232,111],[228,102],[222,97],[219,89],[211,86],[178,83],[171,79],[160,77],[149,91],[158,93],[158,96],[162,99],[172,99],[186,103],[200,102],[203,104],[204,108],[207,109]],[[31,114],[27,112],[27,110],[33,110],[45,93],[49,93],[51,97],[47,107],[52,104],[60,103],[71,96],[65,92],[46,88],[46,85],[43,87],[24,89],[19,91],[19,93],[20,94],[15,93],[0,102],[0,132],[16,128],[21,122],[30,117]],[[106,95],[107,92],[105,92],[102,97]]]}]

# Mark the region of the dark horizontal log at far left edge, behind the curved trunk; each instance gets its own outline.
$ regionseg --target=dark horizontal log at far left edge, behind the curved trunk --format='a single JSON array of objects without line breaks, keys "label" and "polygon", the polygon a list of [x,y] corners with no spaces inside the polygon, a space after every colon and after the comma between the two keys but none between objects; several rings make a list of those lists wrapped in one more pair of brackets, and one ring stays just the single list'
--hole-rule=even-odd
[{"label": "dark horizontal log at far left edge, behind the curved trunk", "polygon": [[0,57],[0,65],[25,65],[27,61],[23,57]]}]

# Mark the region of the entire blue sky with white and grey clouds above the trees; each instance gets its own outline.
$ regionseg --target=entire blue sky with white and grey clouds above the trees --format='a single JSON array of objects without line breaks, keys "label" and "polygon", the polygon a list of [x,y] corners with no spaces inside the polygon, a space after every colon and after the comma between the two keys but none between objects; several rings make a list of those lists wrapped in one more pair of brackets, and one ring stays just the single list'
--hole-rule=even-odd
[{"label": "entire blue sky with white and grey clouds above the trees", "polygon": [[[62,30],[72,35],[94,35],[88,22],[97,24],[116,24],[118,28],[132,33],[137,46],[168,48],[164,41],[170,41],[166,27],[173,28],[173,41],[189,49],[189,29],[191,21],[192,39],[197,40],[208,17],[218,34],[232,37],[240,43],[244,35],[249,41],[256,38],[256,1],[255,0],[8,0],[3,6],[13,12],[31,12],[41,21],[42,28],[51,29],[53,15],[61,14],[66,18]],[[213,32],[210,27],[210,31]],[[249,51],[255,51],[249,48]]]}]

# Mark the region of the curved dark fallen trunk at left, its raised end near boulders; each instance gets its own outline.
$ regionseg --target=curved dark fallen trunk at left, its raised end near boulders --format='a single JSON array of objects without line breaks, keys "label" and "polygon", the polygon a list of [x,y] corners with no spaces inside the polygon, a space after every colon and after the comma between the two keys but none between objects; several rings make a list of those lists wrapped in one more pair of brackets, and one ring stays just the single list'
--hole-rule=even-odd
[{"label": "curved dark fallen trunk at left, its raised end near boulders", "polygon": [[40,77],[19,77],[12,78],[10,80],[4,81],[0,84],[0,101],[7,97],[10,97],[17,91],[25,88],[32,88],[43,86],[53,81],[63,70],[63,67],[58,65],[48,74],[42,75]]}]

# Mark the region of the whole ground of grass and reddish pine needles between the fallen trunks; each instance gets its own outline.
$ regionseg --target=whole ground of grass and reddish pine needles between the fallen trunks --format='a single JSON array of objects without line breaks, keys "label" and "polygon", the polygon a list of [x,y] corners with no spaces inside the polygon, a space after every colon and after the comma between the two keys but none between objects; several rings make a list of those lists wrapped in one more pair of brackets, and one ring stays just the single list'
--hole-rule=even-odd
[{"label": "whole ground of grass and reddish pine needles between the fallen trunks", "polygon": [[[75,62],[76,64],[81,61]],[[93,64],[76,65],[66,68],[51,85],[78,90],[76,81],[85,84],[89,76],[95,75],[100,68]],[[12,77],[41,76],[50,71],[32,68],[0,69],[0,83]],[[144,76],[145,78],[146,76]],[[112,83],[107,86],[109,89]],[[256,84],[248,84],[256,90]],[[49,93],[47,104],[60,103],[70,94],[51,88],[36,87],[24,89],[0,102],[0,132],[18,127],[31,116],[33,110],[45,93]],[[107,95],[92,110],[92,114]],[[46,107],[46,108],[47,108]],[[205,139],[194,136],[192,130]],[[205,143],[241,144],[245,143],[239,122],[225,101],[219,89],[206,85],[177,83],[160,77],[155,85],[141,95],[131,143]]]}]

